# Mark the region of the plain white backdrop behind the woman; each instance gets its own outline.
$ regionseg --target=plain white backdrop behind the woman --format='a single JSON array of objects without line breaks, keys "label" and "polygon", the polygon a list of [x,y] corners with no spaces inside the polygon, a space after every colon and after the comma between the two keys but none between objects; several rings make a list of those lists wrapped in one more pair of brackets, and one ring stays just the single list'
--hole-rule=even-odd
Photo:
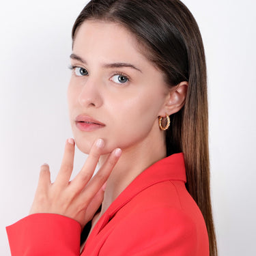
[{"label": "plain white backdrop behind the woman", "polygon": [[[0,254],[5,226],[29,212],[42,163],[53,179],[72,137],[66,88],[71,29],[87,1],[0,3]],[[221,256],[256,255],[256,4],[184,0],[205,44],[212,203]],[[75,173],[85,156],[76,155]]]}]

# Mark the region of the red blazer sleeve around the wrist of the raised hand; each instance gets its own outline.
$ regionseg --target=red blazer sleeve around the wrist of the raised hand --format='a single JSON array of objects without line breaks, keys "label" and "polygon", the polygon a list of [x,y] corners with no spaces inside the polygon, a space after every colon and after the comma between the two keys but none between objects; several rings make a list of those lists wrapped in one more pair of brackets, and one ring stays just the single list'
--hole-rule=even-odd
[{"label": "red blazer sleeve around the wrist of the raised hand", "polygon": [[78,256],[81,226],[58,214],[31,214],[6,227],[12,256]]}]

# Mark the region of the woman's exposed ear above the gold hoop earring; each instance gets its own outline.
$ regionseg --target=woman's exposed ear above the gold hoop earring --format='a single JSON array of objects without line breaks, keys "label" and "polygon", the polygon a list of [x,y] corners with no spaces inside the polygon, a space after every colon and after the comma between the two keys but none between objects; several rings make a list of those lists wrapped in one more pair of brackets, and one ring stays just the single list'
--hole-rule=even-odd
[{"label": "woman's exposed ear above the gold hoop earring", "polygon": [[172,115],[182,109],[185,104],[188,82],[183,81],[169,90],[165,104],[162,106],[160,116]]}]

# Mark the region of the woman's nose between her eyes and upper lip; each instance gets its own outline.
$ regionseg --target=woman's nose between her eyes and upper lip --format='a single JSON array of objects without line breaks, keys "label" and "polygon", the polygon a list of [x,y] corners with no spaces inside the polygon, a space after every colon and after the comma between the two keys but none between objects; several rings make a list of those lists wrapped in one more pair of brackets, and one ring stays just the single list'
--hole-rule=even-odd
[{"label": "woman's nose between her eyes and upper lip", "polygon": [[83,107],[99,108],[103,102],[100,94],[100,81],[88,77],[87,81],[81,86],[79,104]]}]

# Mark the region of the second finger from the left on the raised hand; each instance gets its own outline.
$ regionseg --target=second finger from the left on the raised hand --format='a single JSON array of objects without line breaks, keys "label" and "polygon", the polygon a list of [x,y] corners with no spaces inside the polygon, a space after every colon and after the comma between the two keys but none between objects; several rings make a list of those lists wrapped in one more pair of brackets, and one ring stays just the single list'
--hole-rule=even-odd
[{"label": "second finger from the left on the raised hand", "polygon": [[67,139],[61,167],[55,180],[55,185],[66,185],[70,180],[74,165],[74,139]]}]

